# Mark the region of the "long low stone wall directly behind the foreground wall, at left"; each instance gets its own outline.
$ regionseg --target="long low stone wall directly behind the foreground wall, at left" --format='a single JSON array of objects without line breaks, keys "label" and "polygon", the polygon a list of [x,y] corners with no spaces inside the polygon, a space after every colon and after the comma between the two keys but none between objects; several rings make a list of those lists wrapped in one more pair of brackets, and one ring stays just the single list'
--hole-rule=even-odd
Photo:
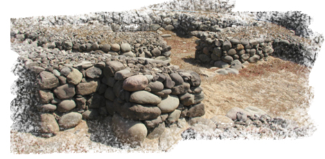
[{"label": "long low stone wall directly behind the foreground wall, at left", "polygon": [[94,51],[103,55],[156,58],[170,62],[171,47],[157,33],[114,33],[105,30],[90,32],[85,29],[85,32],[89,34],[83,36],[81,28],[71,31],[63,31],[64,28],[59,29],[60,31],[50,30],[46,34],[39,31],[30,31],[24,34],[12,33],[12,38],[26,44],[33,44],[35,47],[42,47],[42,49],[67,51],[67,53]]}]

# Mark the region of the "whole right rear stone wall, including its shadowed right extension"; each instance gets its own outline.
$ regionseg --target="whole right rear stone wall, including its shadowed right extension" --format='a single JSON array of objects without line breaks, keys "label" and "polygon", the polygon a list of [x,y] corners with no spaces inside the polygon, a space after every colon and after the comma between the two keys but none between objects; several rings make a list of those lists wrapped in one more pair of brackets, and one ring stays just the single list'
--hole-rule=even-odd
[{"label": "whole right rear stone wall, including its shadowed right extension", "polygon": [[[274,37],[257,39],[221,38],[213,32],[195,32],[197,44],[195,59],[210,66],[227,68],[236,62],[256,63],[267,60],[272,54],[285,60],[291,60],[301,65],[313,66],[317,58],[317,47],[303,42],[290,42]],[[238,63],[239,65],[241,65]]]}]

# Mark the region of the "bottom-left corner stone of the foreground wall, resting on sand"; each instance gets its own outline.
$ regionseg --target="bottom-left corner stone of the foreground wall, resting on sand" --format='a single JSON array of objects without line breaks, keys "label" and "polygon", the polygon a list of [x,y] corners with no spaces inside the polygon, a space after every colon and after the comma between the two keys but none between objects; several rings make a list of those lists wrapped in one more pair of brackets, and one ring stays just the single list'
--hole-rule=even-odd
[{"label": "bottom-left corner stone of the foreground wall, resting on sand", "polygon": [[42,133],[53,133],[57,134],[60,131],[58,122],[51,114],[42,114],[41,115],[41,132]]}]

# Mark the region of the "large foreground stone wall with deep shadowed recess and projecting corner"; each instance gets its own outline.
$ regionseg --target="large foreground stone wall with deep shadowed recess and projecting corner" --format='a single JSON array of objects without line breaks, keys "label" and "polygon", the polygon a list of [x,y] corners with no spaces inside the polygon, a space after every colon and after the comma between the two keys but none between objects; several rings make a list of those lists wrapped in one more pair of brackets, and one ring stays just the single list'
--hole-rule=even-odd
[{"label": "large foreground stone wall with deep shadowed recess and projecting corner", "polygon": [[204,93],[195,72],[163,60],[98,53],[90,53],[89,60],[76,58],[75,64],[51,60],[44,67],[39,60],[48,57],[47,51],[20,57],[36,76],[39,101],[35,106],[43,135],[73,128],[82,119],[109,116],[118,140],[135,146],[146,137],[159,137],[179,118],[204,115]]}]

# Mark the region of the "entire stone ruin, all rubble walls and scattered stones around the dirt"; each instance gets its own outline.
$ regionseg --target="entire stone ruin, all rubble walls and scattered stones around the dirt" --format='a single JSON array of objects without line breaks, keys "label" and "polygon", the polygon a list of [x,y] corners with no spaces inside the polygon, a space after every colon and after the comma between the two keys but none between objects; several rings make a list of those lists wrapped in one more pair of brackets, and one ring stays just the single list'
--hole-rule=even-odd
[{"label": "entire stone ruin, all rubble walls and scattered stones around the dirt", "polygon": [[[129,15],[138,18],[134,18],[134,22],[122,18]],[[146,139],[163,140],[162,136],[168,142],[163,134],[170,132],[167,129],[175,124],[186,130],[182,133],[184,139],[230,137],[234,128],[243,130],[254,126],[269,126],[265,131],[269,135],[283,128],[290,128],[291,131],[281,132],[291,136],[299,136],[304,131],[297,129],[295,122],[272,118],[253,107],[233,108],[226,116],[203,119],[204,92],[200,87],[200,75],[170,65],[171,47],[159,31],[164,28],[197,36],[200,40],[195,41],[195,59],[220,68],[231,65],[228,69],[220,69],[219,74],[236,72],[230,69],[240,70],[245,62],[267,60],[271,53],[313,65],[316,54],[310,49],[306,53],[308,49],[304,44],[274,38],[218,37],[217,32],[243,23],[232,17],[203,17],[183,12],[105,12],[91,18],[46,17],[36,21],[49,26],[87,24],[102,27],[102,23],[108,24],[107,31],[93,32],[82,38],[77,31],[64,35],[51,29],[46,33],[42,29],[18,31],[15,26],[23,22],[12,19],[10,35],[21,42],[12,50],[21,56],[20,71],[30,76],[30,83],[37,84],[30,90],[30,97],[37,101],[32,99],[28,104],[39,113],[39,118],[35,115],[33,122],[38,124],[35,130],[43,137],[73,128],[82,119],[108,121],[118,142],[131,147],[141,145]],[[27,19],[24,22],[33,24],[36,21]],[[256,24],[247,22],[243,26]],[[124,27],[133,24],[141,25],[139,28]],[[130,29],[157,33],[116,32]],[[240,137],[240,133],[236,135]]]}]

